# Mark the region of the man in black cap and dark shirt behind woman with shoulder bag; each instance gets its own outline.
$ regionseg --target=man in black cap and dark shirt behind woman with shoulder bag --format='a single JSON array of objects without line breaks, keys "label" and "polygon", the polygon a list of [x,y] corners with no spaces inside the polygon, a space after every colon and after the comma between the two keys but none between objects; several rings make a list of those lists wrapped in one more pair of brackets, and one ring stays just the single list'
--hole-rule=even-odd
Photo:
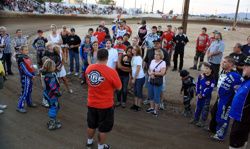
[{"label": "man in black cap and dark shirt behind woman with shoulder bag", "polygon": [[[147,54],[145,56],[144,62],[145,62],[145,66],[146,66],[146,70],[148,71],[149,66],[151,64],[151,61],[153,59],[155,59],[155,52],[157,50],[161,49],[161,39],[157,39],[154,41],[154,48],[150,49],[147,51]],[[168,70],[168,68],[170,67],[170,59],[168,56],[168,52],[165,49],[161,49],[163,52],[163,60],[165,61],[166,64],[166,72]],[[165,73],[166,73],[165,72]],[[146,82],[145,82],[145,88],[148,88],[148,73],[146,73]],[[160,101],[160,109],[164,109],[164,104],[163,104],[163,91],[165,90],[165,76],[163,77],[163,87],[161,90],[161,101]],[[146,100],[143,101],[143,104],[149,104],[149,99],[147,98]]]}]

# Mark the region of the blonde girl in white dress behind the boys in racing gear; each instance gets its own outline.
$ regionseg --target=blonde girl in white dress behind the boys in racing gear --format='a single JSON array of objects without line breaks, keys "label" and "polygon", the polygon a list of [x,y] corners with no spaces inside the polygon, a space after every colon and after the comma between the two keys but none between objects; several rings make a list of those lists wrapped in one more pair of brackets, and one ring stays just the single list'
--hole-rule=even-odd
[{"label": "blonde girl in white dress behind the boys in racing gear", "polygon": [[60,58],[62,61],[62,63],[56,68],[57,69],[56,75],[59,79],[62,78],[65,86],[67,87],[68,92],[73,93],[73,91],[69,88],[69,84],[68,84],[68,81],[66,79],[66,70],[64,68],[64,61],[65,61],[64,60],[64,53],[62,52],[61,47],[58,45],[54,45],[53,50],[56,51],[60,55]]}]

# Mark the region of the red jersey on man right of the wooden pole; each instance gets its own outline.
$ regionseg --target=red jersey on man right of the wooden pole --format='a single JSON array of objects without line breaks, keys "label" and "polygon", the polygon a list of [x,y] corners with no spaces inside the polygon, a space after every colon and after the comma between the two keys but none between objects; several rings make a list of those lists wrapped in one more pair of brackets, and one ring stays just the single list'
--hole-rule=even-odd
[{"label": "red jersey on man right of the wooden pole", "polygon": [[200,34],[200,36],[197,38],[196,41],[196,50],[199,51],[207,51],[210,46],[210,38],[207,34],[203,35]]}]

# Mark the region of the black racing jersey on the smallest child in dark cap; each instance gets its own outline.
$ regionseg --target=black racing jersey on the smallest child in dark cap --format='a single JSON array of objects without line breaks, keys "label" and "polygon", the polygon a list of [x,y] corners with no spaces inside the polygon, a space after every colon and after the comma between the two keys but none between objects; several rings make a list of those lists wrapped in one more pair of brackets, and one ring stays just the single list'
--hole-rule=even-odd
[{"label": "black racing jersey on the smallest child in dark cap", "polygon": [[184,97],[193,98],[195,86],[196,83],[193,77],[189,76],[187,79],[182,79],[181,91],[184,91]]}]

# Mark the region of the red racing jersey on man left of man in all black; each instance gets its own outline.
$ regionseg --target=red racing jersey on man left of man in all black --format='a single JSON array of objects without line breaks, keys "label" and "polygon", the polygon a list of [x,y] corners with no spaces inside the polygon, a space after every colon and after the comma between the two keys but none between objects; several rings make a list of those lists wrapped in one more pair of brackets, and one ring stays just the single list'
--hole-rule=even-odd
[{"label": "red racing jersey on man left of man in all black", "polygon": [[175,36],[174,32],[170,31],[165,31],[163,32],[161,36],[161,40],[163,42],[163,48],[164,49],[170,49],[173,46],[173,37]]}]

